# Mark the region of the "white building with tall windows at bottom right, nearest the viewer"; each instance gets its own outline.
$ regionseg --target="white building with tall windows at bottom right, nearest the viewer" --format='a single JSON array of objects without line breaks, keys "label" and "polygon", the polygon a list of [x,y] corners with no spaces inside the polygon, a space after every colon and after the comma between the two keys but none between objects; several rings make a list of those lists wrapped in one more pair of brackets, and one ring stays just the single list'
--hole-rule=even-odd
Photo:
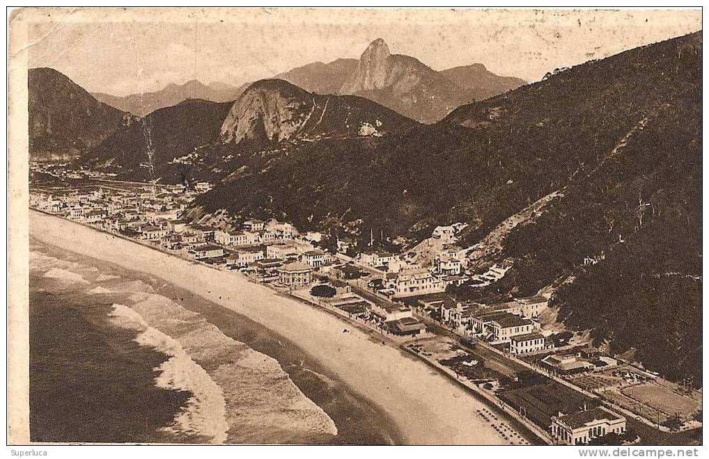
[{"label": "white building with tall windows at bottom right, nearest the viewer", "polygon": [[625,433],[625,417],[605,407],[552,416],[552,438],[562,445],[584,445],[608,433]]}]

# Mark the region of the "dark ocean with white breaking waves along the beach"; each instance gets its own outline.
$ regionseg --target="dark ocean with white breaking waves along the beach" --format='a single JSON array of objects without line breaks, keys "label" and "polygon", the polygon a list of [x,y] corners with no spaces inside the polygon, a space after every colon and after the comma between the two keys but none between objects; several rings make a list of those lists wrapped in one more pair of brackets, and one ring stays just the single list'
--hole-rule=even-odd
[{"label": "dark ocean with white breaking waves along the beach", "polygon": [[398,443],[293,344],[177,285],[30,239],[30,438]]}]

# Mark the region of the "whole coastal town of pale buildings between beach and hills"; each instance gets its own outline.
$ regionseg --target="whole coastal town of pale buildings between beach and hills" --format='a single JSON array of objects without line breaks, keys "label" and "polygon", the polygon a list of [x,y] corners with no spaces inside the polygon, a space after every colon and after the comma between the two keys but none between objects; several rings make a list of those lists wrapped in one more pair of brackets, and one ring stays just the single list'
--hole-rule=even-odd
[{"label": "whole coastal town of pale buildings between beach and hills", "polygon": [[[432,229],[400,253],[291,222],[245,215],[229,225],[187,218],[211,183],[115,181],[87,169],[30,164],[30,208],[182,259],[245,276],[367,331],[466,387],[479,415],[510,444],[644,444],[701,427],[701,392],[559,329],[551,293],[504,302],[461,300],[456,288],[493,285],[508,261],[471,268],[464,224]],[[592,261],[589,261],[591,263]],[[510,427],[523,426],[520,436]]]}]

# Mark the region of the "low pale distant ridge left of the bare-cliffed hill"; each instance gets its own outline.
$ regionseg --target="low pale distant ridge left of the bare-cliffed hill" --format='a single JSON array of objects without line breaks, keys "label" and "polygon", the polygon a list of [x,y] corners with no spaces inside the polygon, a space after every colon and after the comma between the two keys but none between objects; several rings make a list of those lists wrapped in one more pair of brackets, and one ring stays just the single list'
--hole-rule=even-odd
[{"label": "low pale distant ridge left of the bare-cliffed hill", "polygon": [[158,108],[174,106],[185,99],[204,99],[214,102],[235,101],[244,91],[245,86],[213,82],[205,86],[200,81],[191,80],[185,84],[168,84],[160,91],[130,94],[130,96],[111,96],[94,93],[94,97],[110,106],[138,116],[145,116]]}]

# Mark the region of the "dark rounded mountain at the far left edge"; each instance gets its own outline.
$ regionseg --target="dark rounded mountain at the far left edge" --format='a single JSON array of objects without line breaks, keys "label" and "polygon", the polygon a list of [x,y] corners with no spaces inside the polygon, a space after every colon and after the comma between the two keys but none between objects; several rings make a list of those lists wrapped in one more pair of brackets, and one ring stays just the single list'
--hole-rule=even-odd
[{"label": "dark rounded mountain at the far left edge", "polygon": [[28,72],[31,160],[67,160],[99,144],[130,117],[55,69]]}]

